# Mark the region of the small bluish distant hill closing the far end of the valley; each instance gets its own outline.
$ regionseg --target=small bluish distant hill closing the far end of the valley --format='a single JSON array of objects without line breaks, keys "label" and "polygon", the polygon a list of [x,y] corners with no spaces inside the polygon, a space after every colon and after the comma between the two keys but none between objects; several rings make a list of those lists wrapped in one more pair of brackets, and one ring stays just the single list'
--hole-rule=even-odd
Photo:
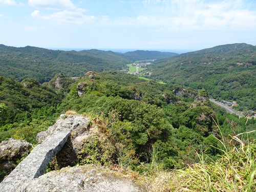
[{"label": "small bluish distant hill closing the far end of the valley", "polygon": [[167,57],[173,57],[178,55],[178,53],[170,53],[170,52],[160,52],[160,51],[130,51],[123,54],[127,58],[136,61],[143,59],[163,59]]}]

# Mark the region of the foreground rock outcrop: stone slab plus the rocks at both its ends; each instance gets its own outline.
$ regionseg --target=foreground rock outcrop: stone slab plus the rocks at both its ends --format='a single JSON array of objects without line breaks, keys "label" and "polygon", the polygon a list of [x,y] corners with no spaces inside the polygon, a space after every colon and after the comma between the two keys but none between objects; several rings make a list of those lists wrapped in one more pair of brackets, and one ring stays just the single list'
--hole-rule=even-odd
[{"label": "foreground rock outcrop: stone slab plus the rocks at both its ends", "polygon": [[47,131],[38,134],[41,143],[0,183],[0,191],[146,191],[132,175],[128,178],[127,173],[92,164],[63,167],[42,175],[53,156],[67,165],[72,152],[75,156],[81,150],[89,135],[89,121],[79,115],[61,115]]}]

